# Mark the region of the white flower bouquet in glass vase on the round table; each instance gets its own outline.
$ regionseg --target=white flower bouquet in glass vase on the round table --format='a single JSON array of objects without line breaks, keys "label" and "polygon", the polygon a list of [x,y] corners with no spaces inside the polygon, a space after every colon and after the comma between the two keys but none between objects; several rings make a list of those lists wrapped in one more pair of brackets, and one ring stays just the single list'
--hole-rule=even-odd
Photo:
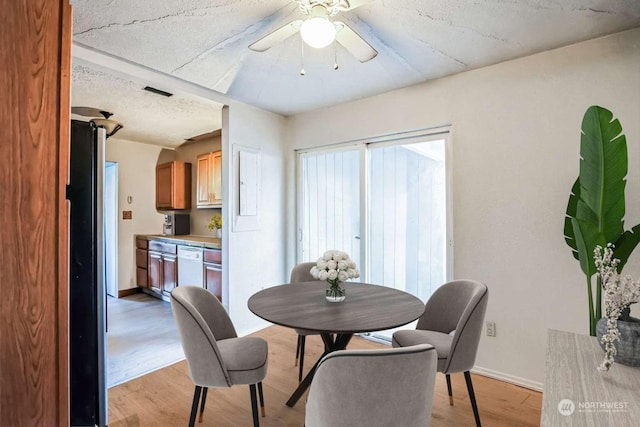
[{"label": "white flower bouquet in glass vase on the round table", "polygon": [[346,294],[343,283],[349,279],[360,277],[360,272],[346,252],[330,250],[318,258],[316,265],[310,271],[318,280],[326,281],[329,286],[326,298],[331,302],[344,301]]}]

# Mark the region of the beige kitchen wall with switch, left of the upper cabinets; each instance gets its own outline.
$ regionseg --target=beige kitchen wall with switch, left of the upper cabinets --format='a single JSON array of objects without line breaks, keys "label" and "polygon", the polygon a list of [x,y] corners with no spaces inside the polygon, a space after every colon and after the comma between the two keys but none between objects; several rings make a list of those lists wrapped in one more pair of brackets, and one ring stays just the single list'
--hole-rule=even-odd
[{"label": "beige kitchen wall with switch, left of the upper cabinets", "polygon": [[[118,163],[118,289],[136,287],[134,234],[162,233],[156,211],[156,163],[162,147],[109,138],[106,159]],[[132,202],[127,202],[131,196]],[[133,211],[131,220],[122,211]]]}]

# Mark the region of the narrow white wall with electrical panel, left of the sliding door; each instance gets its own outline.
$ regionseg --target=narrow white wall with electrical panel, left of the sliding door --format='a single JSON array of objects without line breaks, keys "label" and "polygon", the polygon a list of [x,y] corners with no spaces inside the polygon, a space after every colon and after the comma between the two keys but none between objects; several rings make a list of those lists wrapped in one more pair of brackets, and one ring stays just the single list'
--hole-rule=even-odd
[{"label": "narrow white wall with electrical panel, left of the sliding door", "polygon": [[[222,114],[223,290],[239,335],[270,326],[247,308],[259,290],[286,282],[285,273],[285,119],[246,105],[225,107]],[[239,184],[234,147],[260,152],[261,192],[256,229],[238,231]],[[246,219],[246,218],[245,218]]]}]

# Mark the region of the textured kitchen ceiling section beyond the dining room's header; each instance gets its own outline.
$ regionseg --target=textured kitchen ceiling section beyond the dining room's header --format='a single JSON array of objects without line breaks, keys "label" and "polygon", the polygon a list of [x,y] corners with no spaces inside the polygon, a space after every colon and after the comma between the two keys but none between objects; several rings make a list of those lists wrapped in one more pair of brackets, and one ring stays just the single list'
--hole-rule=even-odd
[{"label": "textured kitchen ceiling section beyond the dining room's header", "polygon": [[124,126],[114,138],[177,147],[187,138],[222,126],[222,105],[215,102],[179,94],[169,98],[156,95],[143,90],[144,82],[77,59],[71,75],[71,105],[113,113],[111,118]]}]

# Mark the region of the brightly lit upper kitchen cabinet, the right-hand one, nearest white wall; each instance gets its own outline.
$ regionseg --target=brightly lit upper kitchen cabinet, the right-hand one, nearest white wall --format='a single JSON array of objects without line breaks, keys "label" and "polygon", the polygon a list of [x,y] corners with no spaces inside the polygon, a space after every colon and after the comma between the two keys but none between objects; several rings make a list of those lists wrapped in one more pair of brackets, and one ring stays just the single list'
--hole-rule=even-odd
[{"label": "brightly lit upper kitchen cabinet, the right-hand one, nearest white wall", "polygon": [[196,167],[196,207],[222,206],[222,151],[199,155]]}]

